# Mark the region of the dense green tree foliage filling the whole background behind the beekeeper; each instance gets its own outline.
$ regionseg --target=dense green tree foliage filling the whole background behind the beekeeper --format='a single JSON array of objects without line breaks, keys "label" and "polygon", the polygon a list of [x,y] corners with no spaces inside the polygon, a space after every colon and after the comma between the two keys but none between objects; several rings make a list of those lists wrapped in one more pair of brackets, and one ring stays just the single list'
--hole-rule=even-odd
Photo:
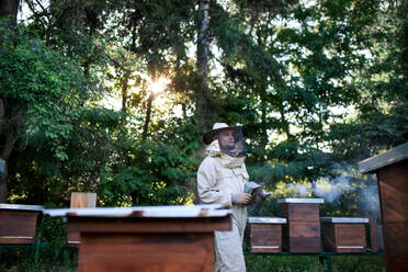
[{"label": "dense green tree foliage filling the whole background behind the beekeeper", "polygon": [[[64,206],[94,191],[99,205],[192,203],[207,112],[245,125],[251,179],[274,197],[349,177],[339,203],[352,215],[370,183],[354,163],[407,141],[404,2],[209,1],[205,111],[194,2],[25,3],[25,31],[0,55],[5,120],[24,116],[9,201]],[[170,83],[152,93],[159,77]],[[5,146],[14,126],[2,126]]]}]

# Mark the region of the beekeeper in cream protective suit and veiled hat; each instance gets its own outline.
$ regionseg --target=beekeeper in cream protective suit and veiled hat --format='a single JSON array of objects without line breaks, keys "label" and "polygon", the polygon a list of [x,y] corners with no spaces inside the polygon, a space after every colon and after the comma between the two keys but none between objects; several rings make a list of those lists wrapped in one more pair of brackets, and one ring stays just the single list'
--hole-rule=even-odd
[{"label": "beekeeper in cream protective suit and veiled hat", "polygon": [[215,271],[242,272],[246,271],[242,253],[246,204],[251,200],[250,194],[243,193],[249,177],[243,163],[247,150],[242,126],[215,123],[203,140],[208,146],[197,172],[200,200],[233,209],[233,230],[215,231]]}]

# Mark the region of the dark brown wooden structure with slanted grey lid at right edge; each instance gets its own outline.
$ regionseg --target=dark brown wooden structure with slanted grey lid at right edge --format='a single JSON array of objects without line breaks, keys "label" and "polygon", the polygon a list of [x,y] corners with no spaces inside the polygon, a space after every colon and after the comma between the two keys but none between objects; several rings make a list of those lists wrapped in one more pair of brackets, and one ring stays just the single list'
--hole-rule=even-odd
[{"label": "dark brown wooden structure with slanted grey lid at right edge", "polygon": [[376,173],[387,271],[408,271],[408,143],[359,163]]}]

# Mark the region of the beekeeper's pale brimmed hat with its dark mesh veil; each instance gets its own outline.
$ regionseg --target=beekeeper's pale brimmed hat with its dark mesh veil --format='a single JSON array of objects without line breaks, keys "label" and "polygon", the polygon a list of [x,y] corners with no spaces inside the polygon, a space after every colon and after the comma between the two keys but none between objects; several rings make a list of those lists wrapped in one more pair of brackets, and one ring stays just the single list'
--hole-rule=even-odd
[{"label": "beekeeper's pale brimmed hat with its dark mesh veil", "polygon": [[[220,137],[224,136],[224,137]],[[218,140],[222,152],[233,157],[245,157],[247,155],[247,146],[242,135],[242,125],[228,126],[225,123],[215,123],[213,129],[206,132],[203,141],[206,145]]]}]

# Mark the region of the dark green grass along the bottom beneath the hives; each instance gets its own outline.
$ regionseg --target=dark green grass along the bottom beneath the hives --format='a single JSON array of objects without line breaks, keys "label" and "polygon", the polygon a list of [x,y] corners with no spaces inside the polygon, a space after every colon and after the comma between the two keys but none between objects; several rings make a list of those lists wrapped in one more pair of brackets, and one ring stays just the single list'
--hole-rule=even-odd
[{"label": "dark green grass along the bottom beneath the hives", "polygon": [[[35,271],[34,252],[30,248],[10,248],[0,251],[1,272]],[[248,272],[326,272],[326,263],[318,256],[264,256],[247,254]],[[38,270],[41,272],[76,272],[78,250],[64,248],[43,249]],[[385,272],[384,257],[338,256],[332,257],[332,272]]]}]

